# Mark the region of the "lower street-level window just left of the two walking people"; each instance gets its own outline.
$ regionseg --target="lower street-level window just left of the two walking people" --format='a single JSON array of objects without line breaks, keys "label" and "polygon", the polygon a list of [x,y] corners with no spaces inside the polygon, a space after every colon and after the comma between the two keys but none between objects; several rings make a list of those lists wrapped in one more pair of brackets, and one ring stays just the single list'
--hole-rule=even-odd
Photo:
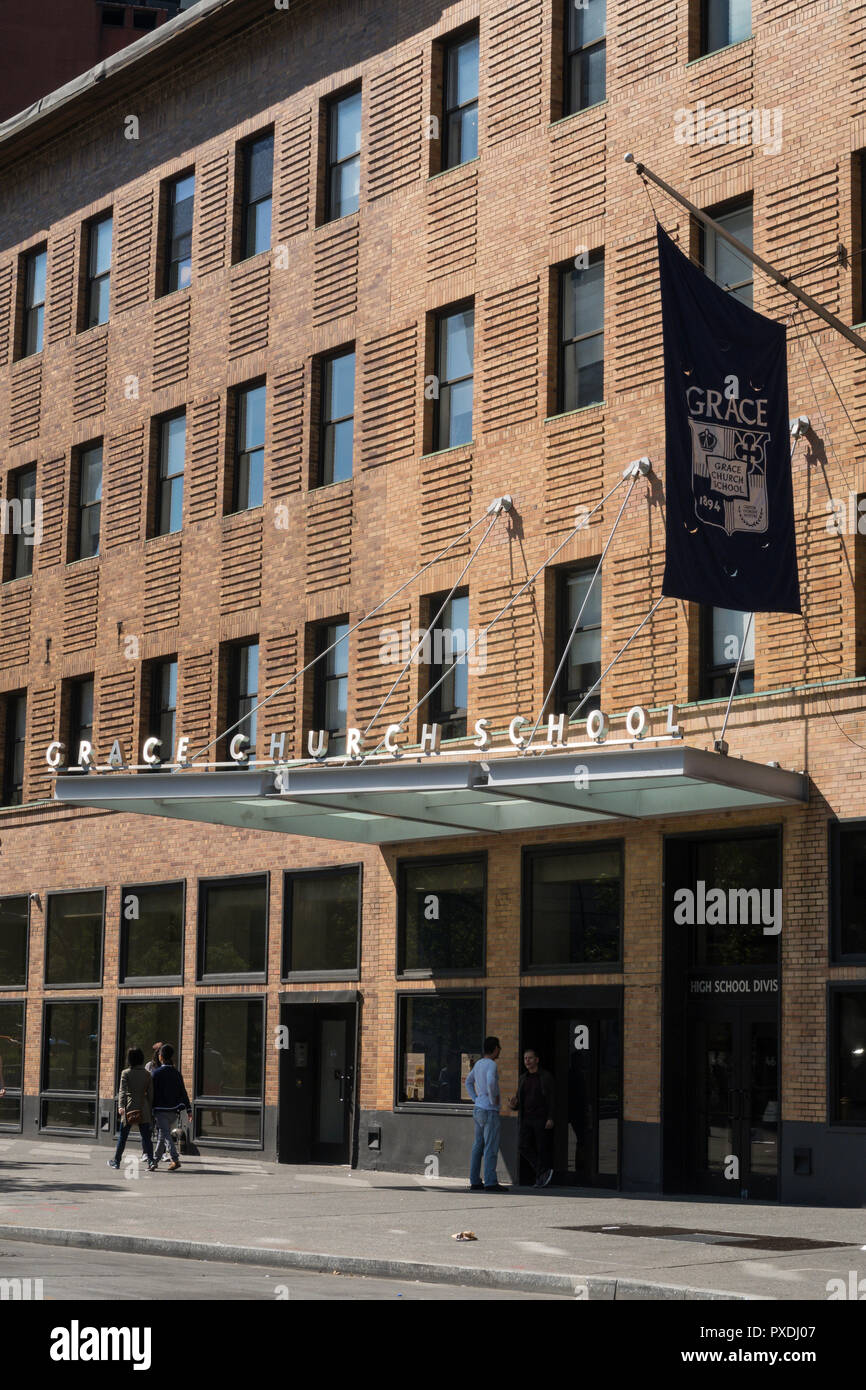
[{"label": "lower street-level window just left of the two walking people", "polygon": [[99,999],[56,999],[42,1011],[40,1127],[96,1130]]}]

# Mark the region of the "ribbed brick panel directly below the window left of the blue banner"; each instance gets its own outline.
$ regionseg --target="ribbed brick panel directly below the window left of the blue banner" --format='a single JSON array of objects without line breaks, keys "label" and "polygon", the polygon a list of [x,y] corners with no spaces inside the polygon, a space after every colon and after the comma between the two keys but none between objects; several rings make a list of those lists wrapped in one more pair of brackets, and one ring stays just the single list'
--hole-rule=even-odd
[{"label": "ribbed brick panel directly below the window left of the blue banner", "polygon": [[[549,534],[570,531],[577,524],[575,509],[588,510],[605,492],[603,414],[566,416],[548,428],[545,450],[545,525]],[[601,525],[605,509],[589,520]]]}]

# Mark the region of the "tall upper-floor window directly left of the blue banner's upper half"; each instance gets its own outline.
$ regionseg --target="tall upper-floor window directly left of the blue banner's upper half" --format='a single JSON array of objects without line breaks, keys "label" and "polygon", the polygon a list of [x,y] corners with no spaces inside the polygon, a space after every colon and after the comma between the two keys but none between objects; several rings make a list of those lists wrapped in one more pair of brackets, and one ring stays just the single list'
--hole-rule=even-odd
[{"label": "tall upper-floor window directly left of the blue banner's upper half", "polygon": [[605,257],[560,271],[559,404],[562,413],[605,399]]}]

